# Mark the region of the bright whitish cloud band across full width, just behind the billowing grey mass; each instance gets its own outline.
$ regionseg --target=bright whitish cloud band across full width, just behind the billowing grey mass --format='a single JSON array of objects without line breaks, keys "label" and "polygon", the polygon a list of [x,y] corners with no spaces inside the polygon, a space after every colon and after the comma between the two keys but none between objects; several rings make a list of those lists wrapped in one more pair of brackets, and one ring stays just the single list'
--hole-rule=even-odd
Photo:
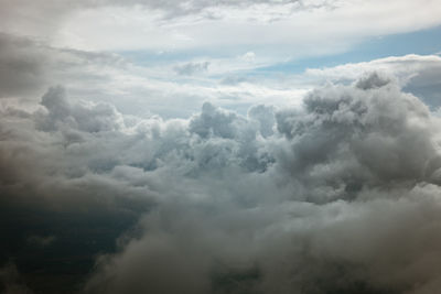
[{"label": "bright whitish cloud band across full width, just behind the billowing grey mass", "polygon": [[[388,57],[310,68],[299,75],[266,73],[262,76],[251,73],[276,61],[245,63],[243,56],[235,56],[233,59],[204,58],[203,62],[200,58],[183,58],[178,63],[159,61],[153,66],[141,66],[131,63],[129,56],[57,48],[46,42],[11,34],[1,34],[0,43],[3,44],[0,62],[4,69],[0,69],[3,77],[0,97],[6,105],[34,104],[49,87],[64,85],[72,100],[105,101],[127,115],[186,118],[197,111],[204,100],[246,115],[254,104],[299,105],[306,91],[326,80],[347,83],[376,70],[398,78],[406,91],[421,97],[433,109],[440,106],[437,79],[440,58],[434,55]],[[260,61],[260,55],[256,56]],[[175,75],[178,69],[193,75]]]}]

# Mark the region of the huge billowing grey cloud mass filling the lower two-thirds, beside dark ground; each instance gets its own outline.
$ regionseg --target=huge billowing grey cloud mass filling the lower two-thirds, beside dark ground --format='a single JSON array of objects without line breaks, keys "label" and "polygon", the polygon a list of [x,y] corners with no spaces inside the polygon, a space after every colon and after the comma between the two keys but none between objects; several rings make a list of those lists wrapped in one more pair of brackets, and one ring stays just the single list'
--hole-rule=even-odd
[{"label": "huge billowing grey cloud mass filling the lower two-thirds, beside dark ground", "polygon": [[[247,116],[209,102],[189,119],[125,116],[62,87],[36,110],[1,111],[6,207],[137,224],[80,292],[441,286],[440,119],[394,76],[327,84],[300,108]],[[61,233],[34,236],[53,238],[49,248]]]}]

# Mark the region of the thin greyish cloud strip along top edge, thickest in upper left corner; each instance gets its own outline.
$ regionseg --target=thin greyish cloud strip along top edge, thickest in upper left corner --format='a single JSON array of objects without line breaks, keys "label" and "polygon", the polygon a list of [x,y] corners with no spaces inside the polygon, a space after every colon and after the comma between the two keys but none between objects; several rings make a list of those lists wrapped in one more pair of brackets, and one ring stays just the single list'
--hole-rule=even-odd
[{"label": "thin greyish cloud strip along top edge, thickest in upper left corner", "polygon": [[[150,13],[160,14],[163,20],[172,20],[182,18],[185,15],[202,15],[204,19],[218,18],[218,13],[212,10],[217,8],[234,8],[244,9],[247,7],[265,6],[267,8],[290,8],[290,9],[312,9],[314,7],[332,7],[329,1],[310,1],[300,0],[287,0],[287,1],[272,1],[272,0],[259,0],[259,1],[152,1],[152,0],[80,0],[72,3],[71,1],[45,1],[44,3],[34,3],[28,0],[1,0],[1,31],[3,33],[10,33],[19,36],[32,36],[39,40],[53,41],[57,35],[60,29],[62,29],[71,17],[82,13],[84,11],[99,10],[107,8],[117,8],[117,10],[123,10],[125,8],[141,7],[150,10]],[[276,13],[275,17],[277,17]],[[115,32],[114,32],[115,33]],[[67,34],[69,34],[67,32]],[[73,36],[73,35],[71,35]],[[74,37],[75,39],[75,37]]]}]

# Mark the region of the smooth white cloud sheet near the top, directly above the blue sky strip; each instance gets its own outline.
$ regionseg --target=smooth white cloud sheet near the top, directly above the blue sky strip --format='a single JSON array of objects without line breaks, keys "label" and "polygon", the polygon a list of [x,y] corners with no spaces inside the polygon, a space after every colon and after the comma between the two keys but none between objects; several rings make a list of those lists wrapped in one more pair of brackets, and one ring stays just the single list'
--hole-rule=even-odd
[{"label": "smooth white cloud sheet near the top, directly above the blue sky strip", "polygon": [[[440,24],[441,14],[437,1],[421,6],[419,1],[354,0],[333,9],[290,6],[295,3],[246,8],[220,4],[166,21],[161,12],[143,7],[105,7],[73,14],[54,41],[63,46],[106,51],[268,46],[284,57],[299,57],[342,52],[370,36],[431,28]],[[270,17],[273,10],[280,10],[275,19]],[[204,11],[216,17],[206,18]]]}]

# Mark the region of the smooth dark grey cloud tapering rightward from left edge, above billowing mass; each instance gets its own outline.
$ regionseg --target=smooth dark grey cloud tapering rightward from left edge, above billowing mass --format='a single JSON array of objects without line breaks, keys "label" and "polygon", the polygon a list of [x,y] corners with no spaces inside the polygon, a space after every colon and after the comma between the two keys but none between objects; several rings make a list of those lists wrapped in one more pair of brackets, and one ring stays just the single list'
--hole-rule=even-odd
[{"label": "smooth dark grey cloud tapering rightward from left edge, above billowing mass", "polygon": [[[55,48],[45,42],[0,32],[0,99],[40,99],[51,85],[109,79],[106,68],[125,68],[127,62],[111,53]],[[92,67],[92,69],[90,69]]]}]

